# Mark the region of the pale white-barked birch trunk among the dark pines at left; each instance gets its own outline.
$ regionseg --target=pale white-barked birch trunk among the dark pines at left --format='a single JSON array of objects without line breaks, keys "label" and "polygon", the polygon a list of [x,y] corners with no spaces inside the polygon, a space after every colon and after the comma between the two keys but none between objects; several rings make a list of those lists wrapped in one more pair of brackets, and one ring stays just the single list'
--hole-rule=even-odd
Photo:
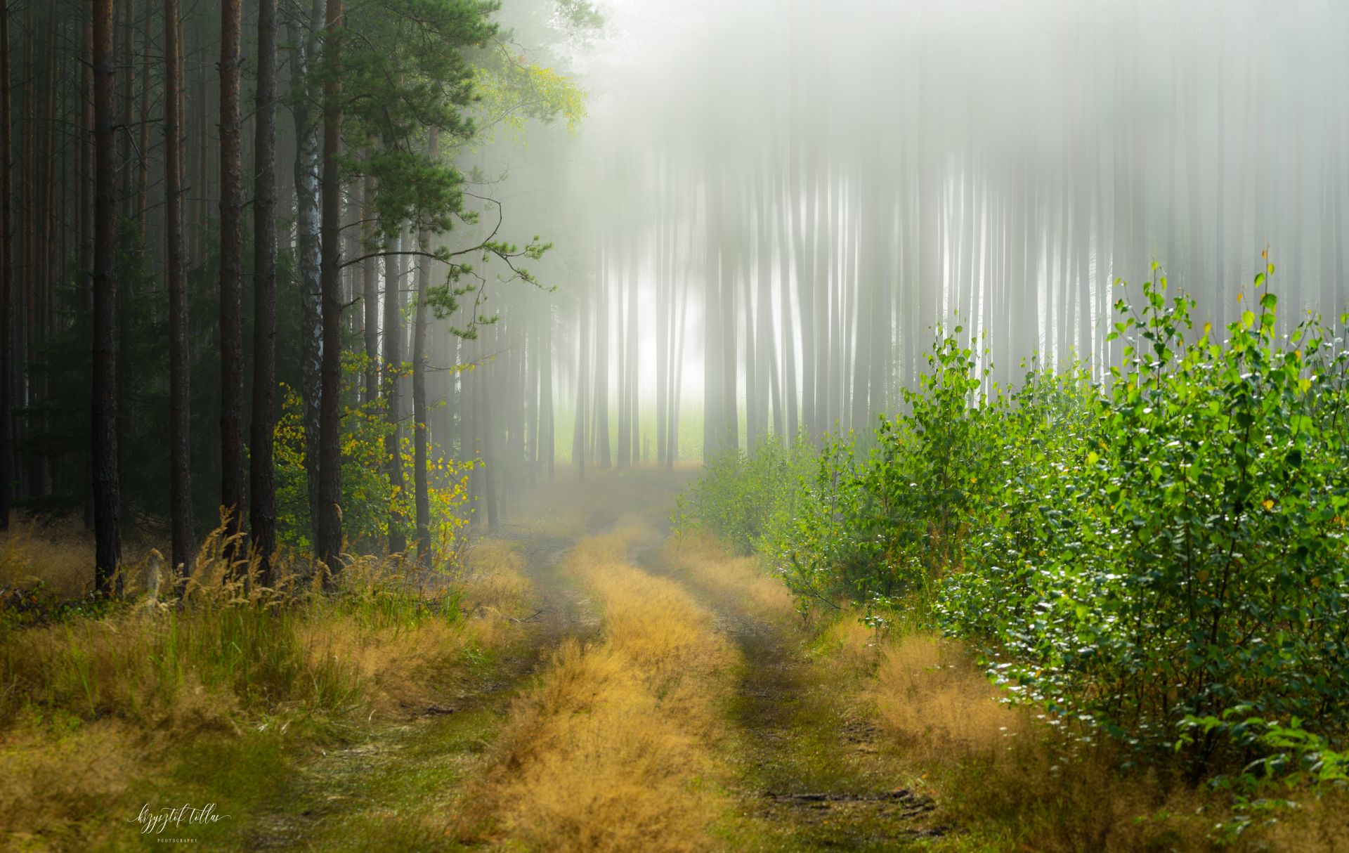
[{"label": "pale white-barked birch trunk among the dark pines at left", "polygon": [[291,117],[295,130],[295,278],[299,282],[299,395],[304,398],[305,476],[309,486],[309,520],[318,541],[318,433],[322,397],[322,308],[318,227],[318,127],[310,115],[312,70],[318,54],[317,32],[324,23],[324,0],[312,0],[309,20],[291,13],[290,34]]}]

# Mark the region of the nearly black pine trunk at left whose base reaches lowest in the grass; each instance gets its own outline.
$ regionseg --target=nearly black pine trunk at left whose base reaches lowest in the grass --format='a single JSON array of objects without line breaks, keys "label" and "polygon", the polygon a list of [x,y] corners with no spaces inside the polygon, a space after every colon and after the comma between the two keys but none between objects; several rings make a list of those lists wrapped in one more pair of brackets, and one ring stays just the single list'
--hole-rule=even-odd
[{"label": "nearly black pine trunk at left whose base reaches lowest in the grass", "polygon": [[112,0],[93,0],[94,238],[93,463],[94,587],[120,594],[121,483],[117,466],[117,115]]}]

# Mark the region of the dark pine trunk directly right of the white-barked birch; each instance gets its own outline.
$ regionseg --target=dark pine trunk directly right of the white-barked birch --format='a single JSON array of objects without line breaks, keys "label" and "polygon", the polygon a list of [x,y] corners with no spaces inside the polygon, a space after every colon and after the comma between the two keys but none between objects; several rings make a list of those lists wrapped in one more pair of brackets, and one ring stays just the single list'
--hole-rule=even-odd
[{"label": "dark pine trunk directly right of the white-barked birch", "polygon": [[[318,418],[318,524],[314,553],[339,571],[341,556],[341,80],[343,0],[328,0],[324,24],[322,390]],[[331,580],[329,580],[331,583]]]}]

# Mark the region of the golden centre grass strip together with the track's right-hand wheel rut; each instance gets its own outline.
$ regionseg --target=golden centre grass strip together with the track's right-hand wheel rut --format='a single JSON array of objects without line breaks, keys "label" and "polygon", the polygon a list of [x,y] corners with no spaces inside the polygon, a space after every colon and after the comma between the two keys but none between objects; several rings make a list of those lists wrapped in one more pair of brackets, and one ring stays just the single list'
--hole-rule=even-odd
[{"label": "golden centre grass strip together with the track's right-hand wheel rut", "polygon": [[[610,480],[612,482],[612,480]],[[561,574],[602,614],[513,706],[469,783],[460,840],[548,850],[950,848],[871,723],[865,665],[838,665],[785,590],[656,512],[608,495],[612,532]],[[622,507],[622,509],[621,509]],[[610,514],[611,513],[611,514]],[[824,641],[827,644],[828,640]],[[854,661],[855,663],[855,661]]]}]

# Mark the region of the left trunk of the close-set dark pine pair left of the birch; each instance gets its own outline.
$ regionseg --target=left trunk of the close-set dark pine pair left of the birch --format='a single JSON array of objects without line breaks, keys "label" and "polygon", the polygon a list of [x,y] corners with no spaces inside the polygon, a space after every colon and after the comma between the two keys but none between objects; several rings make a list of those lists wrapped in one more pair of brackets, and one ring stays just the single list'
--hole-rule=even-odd
[{"label": "left trunk of the close-set dark pine pair left of the birch", "polygon": [[220,503],[229,530],[244,512],[243,140],[240,0],[220,3]]}]

